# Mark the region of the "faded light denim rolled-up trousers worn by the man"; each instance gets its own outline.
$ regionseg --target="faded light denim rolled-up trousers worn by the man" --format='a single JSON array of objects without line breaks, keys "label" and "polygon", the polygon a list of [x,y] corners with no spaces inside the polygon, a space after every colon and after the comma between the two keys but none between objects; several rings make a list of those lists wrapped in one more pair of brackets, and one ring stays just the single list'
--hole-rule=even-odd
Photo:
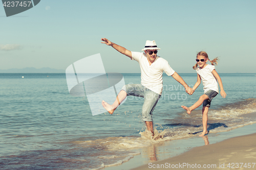
[{"label": "faded light denim rolled-up trousers worn by the man", "polygon": [[152,115],[161,95],[142,86],[141,84],[127,84],[122,90],[126,91],[127,95],[138,96],[144,98],[142,106],[142,119],[147,122],[153,122]]}]

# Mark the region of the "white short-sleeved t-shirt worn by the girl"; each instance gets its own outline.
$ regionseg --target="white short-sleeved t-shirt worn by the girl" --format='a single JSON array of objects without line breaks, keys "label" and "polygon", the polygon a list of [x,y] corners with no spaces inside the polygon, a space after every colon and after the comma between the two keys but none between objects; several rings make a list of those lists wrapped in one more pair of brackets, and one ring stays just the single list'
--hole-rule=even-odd
[{"label": "white short-sleeved t-shirt worn by the girl", "polygon": [[198,67],[197,74],[201,77],[204,85],[204,93],[208,90],[214,90],[219,93],[217,79],[212,75],[211,71],[215,69],[214,65],[206,65],[204,68]]}]

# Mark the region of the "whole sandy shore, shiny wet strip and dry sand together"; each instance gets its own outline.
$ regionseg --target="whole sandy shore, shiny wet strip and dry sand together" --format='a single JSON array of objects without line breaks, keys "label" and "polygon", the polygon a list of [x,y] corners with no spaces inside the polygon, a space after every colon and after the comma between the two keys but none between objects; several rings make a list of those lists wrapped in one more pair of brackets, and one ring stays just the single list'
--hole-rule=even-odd
[{"label": "whole sandy shore, shiny wet strip and dry sand together", "polygon": [[[256,112],[242,116],[255,117]],[[198,166],[211,166],[208,169],[254,169],[255,129],[256,124],[252,124],[228,132],[209,133],[205,137],[165,141],[152,147],[138,149],[141,155],[136,155],[119,166],[105,169],[168,169],[178,165],[178,168],[182,166],[183,169],[200,168]]]}]

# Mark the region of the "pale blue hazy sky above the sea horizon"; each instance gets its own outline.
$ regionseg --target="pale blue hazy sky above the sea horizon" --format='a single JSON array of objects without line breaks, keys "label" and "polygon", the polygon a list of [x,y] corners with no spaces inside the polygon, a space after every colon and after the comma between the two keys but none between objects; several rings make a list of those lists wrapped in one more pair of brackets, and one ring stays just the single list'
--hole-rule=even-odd
[{"label": "pale blue hazy sky above the sea horizon", "polygon": [[219,73],[256,72],[256,1],[50,1],[6,17],[0,7],[0,69],[66,69],[100,53],[106,72],[140,72],[136,61],[101,38],[158,55],[178,73],[193,73],[196,54],[220,57]]}]

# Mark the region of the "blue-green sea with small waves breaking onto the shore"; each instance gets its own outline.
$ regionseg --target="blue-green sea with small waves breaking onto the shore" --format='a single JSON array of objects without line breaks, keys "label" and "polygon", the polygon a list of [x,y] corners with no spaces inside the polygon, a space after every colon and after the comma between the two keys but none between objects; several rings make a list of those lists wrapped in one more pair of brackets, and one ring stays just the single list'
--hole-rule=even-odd
[{"label": "blue-green sea with small waves breaking onto the shore", "polygon": [[[140,83],[140,74],[122,74],[125,84]],[[193,87],[197,74],[179,74]],[[256,123],[256,74],[219,74],[226,98],[218,94],[208,112],[210,134]],[[141,119],[143,98],[127,96],[114,112],[92,115],[87,96],[69,93],[66,74],[0,74],[1,169],[102,169],[130,161],[138,148],[179,141],[202,132],[202,106],[190,115],[203,94],[193,95],[163,74],[163,92],[153,112],[157,138]],[[170,146],[172,147],[172,146]]]}]

